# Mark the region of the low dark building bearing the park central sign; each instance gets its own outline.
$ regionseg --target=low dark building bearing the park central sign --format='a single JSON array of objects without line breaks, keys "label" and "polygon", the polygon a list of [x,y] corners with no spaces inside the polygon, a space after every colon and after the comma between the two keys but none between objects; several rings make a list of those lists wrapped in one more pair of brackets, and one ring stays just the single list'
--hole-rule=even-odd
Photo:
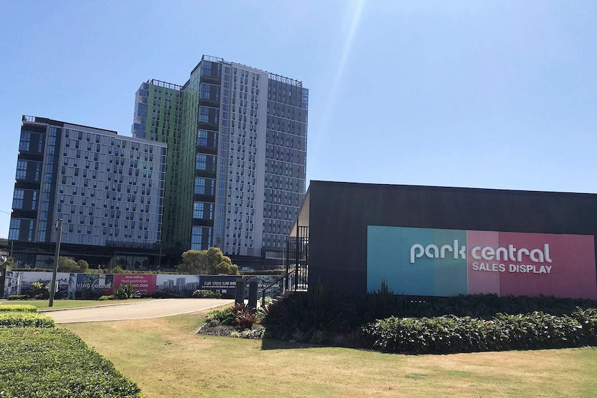
[{"label": "low dark building bearing the park central sign", "polygon": [[595,299],[596,236],[593,194],[311,181],[288,255],[346,293]]}]

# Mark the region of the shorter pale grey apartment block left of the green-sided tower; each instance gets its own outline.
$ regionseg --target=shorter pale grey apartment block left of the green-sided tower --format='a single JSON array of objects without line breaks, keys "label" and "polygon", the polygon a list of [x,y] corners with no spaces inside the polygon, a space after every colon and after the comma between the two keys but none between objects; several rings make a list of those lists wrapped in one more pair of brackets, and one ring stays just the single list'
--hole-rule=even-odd
[{"label": "shorter pale grey apartment block left of the green-sided tower", "polygon": [[51,264],[62,219],[63,255],[158,264],[166,153],[165,143],[23,116],[8,232],[15,259]]}]

